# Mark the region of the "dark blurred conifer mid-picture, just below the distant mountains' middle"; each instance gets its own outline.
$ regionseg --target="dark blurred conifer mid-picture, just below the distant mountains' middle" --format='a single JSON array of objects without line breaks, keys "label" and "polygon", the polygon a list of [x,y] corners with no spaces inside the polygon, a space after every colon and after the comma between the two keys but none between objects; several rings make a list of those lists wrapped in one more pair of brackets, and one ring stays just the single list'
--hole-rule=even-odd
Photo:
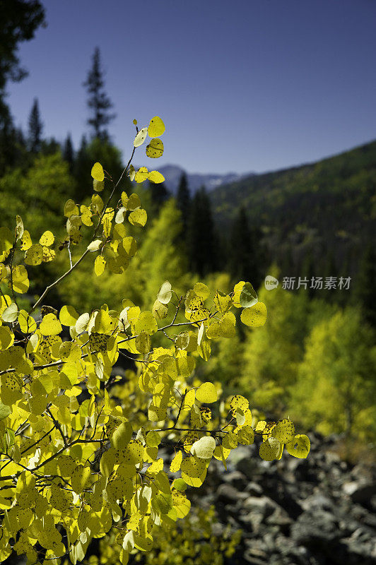
[{"label": "dark blurred conifer mid-picture, just below the distant mountains' middle", "polygon": [[218,238],[211,214],[211,203],[204,186],[196,192],[190,207],[187,249],[189,268],[200,276],[216,270],[218,266]]}]

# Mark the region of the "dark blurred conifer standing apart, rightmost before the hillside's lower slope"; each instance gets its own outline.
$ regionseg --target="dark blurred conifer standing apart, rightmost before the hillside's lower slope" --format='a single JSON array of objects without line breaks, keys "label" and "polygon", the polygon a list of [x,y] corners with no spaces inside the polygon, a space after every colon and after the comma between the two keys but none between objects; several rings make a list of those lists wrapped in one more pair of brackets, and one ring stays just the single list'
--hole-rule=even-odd
[{"label": "dark blurred conifer standing apart, rightmost before the hillside's lower slope", "polygon": [[261,236],[258,228],[249,227],[247,212],[242,206],[230,231],[228,268],[234,280],[248,280],[256,287],[262,282],[259,251]]}]

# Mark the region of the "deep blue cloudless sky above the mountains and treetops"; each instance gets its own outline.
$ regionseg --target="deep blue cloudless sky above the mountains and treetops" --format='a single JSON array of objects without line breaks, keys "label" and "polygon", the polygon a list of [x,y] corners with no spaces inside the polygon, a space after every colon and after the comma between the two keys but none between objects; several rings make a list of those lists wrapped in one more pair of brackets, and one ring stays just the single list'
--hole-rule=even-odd
[{"label": "deep blue cloudless sky above the mountains and treetops", "polygon": [[[82,86],[95,45],[129,155],[136,117],[166,124],[165,156],[189,172],[262,172],[376,138],[375,0],[45,0],[20,47],[16,124],[40,100],[45,134],[87,130]],[[148,163],[147,163],[148,162]]]}]

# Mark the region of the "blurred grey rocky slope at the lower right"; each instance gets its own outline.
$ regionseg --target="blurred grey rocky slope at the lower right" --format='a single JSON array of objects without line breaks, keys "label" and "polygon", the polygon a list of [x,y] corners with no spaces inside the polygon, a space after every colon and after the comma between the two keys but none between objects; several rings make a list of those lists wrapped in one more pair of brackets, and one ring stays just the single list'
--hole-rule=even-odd
[{"label": "blurred grey rocky slope at the lower right", "polygon": [[336,438],[309,434],[306,460],[259,459],[257,446],[240,446],[212,461],[196,504],[214,504],[218,533],[243,530],[227,565],[376,564],[376,465],[349,465],[334,453]]}]

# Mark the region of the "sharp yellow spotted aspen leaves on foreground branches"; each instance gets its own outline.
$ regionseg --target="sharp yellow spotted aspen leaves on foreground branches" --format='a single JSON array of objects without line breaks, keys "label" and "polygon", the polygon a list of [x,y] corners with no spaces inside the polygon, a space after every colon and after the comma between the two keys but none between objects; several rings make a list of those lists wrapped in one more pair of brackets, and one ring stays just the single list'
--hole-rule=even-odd
[{"label": "sharp yellow spotted aspen leaves on foreground branches", "polygon": [[[160,149],[163,131],[163,121],[153,118],[137,133],[135,147],[148,133],[147,154],[158,156],[153,151]],[[100,163],[92,177],[98,193],[105,182]],[[81,241],[83,225],[96,224],[84,254],[98,253],[97,275],[105,266],[124,272],[136,254],[124,220],[128,215],[131,225],[146,222],[139,196],[122,192],[115,213],[93,194],[90,206],[67,201],[64,215],[67,245]],[[47,231],[33,244],[17,217],[11,236],[0,229],[0,283],[10,290],[0,297],[1,561],[13,547],[34,563],[38,541],[45,559],[69,552],[76,564],[90,540],[114,526],[121,537],[119,560],[126,564],[131,552],[151,549],[156,528],[170,528],[187,515],[184,490],[201,486],[213,457],[226,465],[230,451],[252,444],[257,434],[266,460],[280,458],[285,445],[291,455],[307,456],[309,440],[295,435],[292,422],[257,422],[242,396],[221,401],[221,416],[214,418],[220,384],[194,379],[197,359],[211,355],[211,340],[235,335],[233,309],[242,309],[247,326],[265,323],[266,307],[250,283],[212,297],[196,283],[179,299],[165,281],[151,311],[129,299],[119,310],[104,304],[79,313],[66,304],[60,311],[36,305],[28,311],[16,301],[16,292],[28,290],[28,273],[15,254],[25,252],[23,262],[33,266],[51,261],[54,235]],[[175,333],[178,315],[185,316],[179,324],[184,331]],[[153,344],[158,332],[170,338],[165,347]],[[139,370],[119,382],[114,364],[130,354]],[[158,456],[163,439],[176,446],[168,471]]]}]

